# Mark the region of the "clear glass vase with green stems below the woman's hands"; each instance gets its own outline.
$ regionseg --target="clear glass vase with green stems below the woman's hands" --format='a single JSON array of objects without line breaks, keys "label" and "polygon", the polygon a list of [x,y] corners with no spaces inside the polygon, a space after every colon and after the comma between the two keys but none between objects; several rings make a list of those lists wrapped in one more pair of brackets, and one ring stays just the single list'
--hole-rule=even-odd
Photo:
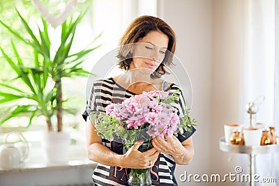
[{"label": "clear glass vase with green stems below the woman's hands", "polygon": [[128,178],[130,186],[149,186],[151,185],[150,169],[131,169]]}]

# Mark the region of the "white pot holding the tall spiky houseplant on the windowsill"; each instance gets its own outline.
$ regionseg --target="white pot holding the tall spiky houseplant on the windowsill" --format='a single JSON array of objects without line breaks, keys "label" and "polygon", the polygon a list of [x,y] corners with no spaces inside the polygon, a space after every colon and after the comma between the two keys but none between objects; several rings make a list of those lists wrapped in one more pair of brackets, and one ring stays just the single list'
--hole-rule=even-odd
[{"label": "white pot holding the tall spiky houseplant on the windowsill", "polygon": [[69,132],[43,132],[41,144],[45,164],[66,164],[70,145]]}]

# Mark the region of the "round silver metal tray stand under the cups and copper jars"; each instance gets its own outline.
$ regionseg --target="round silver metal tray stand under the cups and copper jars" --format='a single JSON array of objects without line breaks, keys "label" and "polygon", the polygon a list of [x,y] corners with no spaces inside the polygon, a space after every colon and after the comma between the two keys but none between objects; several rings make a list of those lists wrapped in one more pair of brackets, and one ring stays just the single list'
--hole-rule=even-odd
[{"label": "round silver metal tray stand under the cups and copper jars", "polygon": [[[279,141],[279,138],[277,138]],[[219,149],[226,153],[241,153],[250,156],[250,176],[255,174],[255,157],[257,154],[269,154],[279,152],[279,144],[267,146],[239,146],[225,142],[225,137],[219,140]],[[255,186],[255,182],[251,179],[250,186]]]}]

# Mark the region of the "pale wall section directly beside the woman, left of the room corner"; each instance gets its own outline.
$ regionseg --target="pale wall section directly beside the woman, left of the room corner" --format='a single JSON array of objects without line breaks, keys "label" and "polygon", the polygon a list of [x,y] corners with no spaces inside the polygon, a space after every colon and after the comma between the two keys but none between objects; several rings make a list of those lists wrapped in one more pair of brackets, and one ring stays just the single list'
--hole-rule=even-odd
[{"label": "pale wall section directly beside the woman, left of the room corner", "polygon": [[[191,116],[196,118],[199,125],[193,136],[195,157],[188,166],[176,168],[177,181],[184,171],[202,175],[211,170],[211,6],[212,3],[208,0],[158,1],[159,17],[172,26],[177,35],[176,56],[188,70],[193,86]],[[179,182],[179,185],[201,183]]]}]

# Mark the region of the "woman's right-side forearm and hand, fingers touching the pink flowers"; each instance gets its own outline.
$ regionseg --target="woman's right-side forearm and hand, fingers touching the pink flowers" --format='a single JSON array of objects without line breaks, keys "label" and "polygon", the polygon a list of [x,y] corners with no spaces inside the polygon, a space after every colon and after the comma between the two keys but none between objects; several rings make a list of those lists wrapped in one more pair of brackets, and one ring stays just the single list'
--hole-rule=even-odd
[{"label": "woman's right-side forearm and hand, fingers touching the pink flowers", "polygon": [[176,164],[188,164],[194,156],[194,146],[192,137],[180,142],[174,135],[165,139],[158,136],[152,139],[152,145],[162,153],[172,155]]}]

